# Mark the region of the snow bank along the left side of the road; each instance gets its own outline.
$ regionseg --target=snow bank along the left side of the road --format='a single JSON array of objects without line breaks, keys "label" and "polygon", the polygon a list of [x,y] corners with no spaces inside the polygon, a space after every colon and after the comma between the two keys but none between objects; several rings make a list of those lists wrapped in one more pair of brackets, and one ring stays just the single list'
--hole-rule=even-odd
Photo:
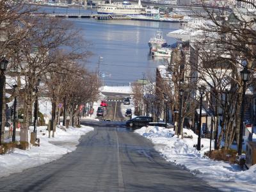
[{"label": "snow bank along the left side of the road", "polygon": [[[33,130],[33,127],[29,127]],[[70,127],[67,131],[56,128],[54,138],[48,138],[47,127],[37,127],[37,137],[40,138],[40,147],[30,146],[28,150],[15,148],[13,152],[0,156],[0,177],[6,177],[11,173],[22,172],[28,168],[39,166],[59,159],[64,154],[76,149],[81,135],[93,131],[93,127]],[[45,135],[43,135],[45,133]],[[58,143],[54,145],[52,143]],[[68,145],[68,142],[70,143]],[[65,143],[65,145],[60,145]]]}]

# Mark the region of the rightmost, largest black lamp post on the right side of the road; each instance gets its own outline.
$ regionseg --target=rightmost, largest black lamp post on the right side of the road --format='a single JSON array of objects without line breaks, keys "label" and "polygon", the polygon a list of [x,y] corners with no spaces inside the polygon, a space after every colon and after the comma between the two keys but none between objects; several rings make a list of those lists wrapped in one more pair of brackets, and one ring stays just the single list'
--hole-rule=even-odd
[{"label": "rightmost, largest black lamp post on the right side of the road", "polygon": [[240,72],[241,79],[243,80],[243,95],[242,95],[242,106],[241,106],[241,120],[240,120],[240,131],[239,131],[239,143],[238,143],[238,155],[241,156],[243,148],[243,129],[244,129],[244,96],[246,91],[246,82],[249,79],[250,71],[246,67]]}]

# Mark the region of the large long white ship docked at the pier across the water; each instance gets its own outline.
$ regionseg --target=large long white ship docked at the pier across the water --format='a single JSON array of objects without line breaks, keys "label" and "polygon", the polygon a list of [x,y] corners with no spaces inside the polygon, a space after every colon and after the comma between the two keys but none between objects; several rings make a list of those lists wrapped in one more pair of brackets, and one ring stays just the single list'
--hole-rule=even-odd
[{"label": "large long white ship docked at the pier across the water", "polygon": [[117,15],[140,15],[145,13],[145,8],[141,5],[141,1],[138,0],[138,4],[131,4],[129,1],[123,3],[112,3],[106,1],[105,3],[98,4],[98,14],[117,14]]}]

